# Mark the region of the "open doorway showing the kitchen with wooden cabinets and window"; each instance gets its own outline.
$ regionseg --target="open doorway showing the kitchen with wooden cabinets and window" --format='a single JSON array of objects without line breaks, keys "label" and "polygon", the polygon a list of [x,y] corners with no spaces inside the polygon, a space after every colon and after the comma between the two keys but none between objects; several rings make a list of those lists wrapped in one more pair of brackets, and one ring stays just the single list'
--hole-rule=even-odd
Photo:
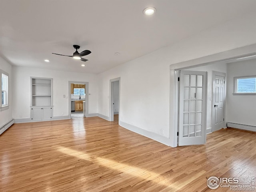
[{"label": "open doorway showing the kitchen with wooden cabinets and window", "polygon": [[88,114],[88,82],[68,82],[69,117],[83,118]]}]

